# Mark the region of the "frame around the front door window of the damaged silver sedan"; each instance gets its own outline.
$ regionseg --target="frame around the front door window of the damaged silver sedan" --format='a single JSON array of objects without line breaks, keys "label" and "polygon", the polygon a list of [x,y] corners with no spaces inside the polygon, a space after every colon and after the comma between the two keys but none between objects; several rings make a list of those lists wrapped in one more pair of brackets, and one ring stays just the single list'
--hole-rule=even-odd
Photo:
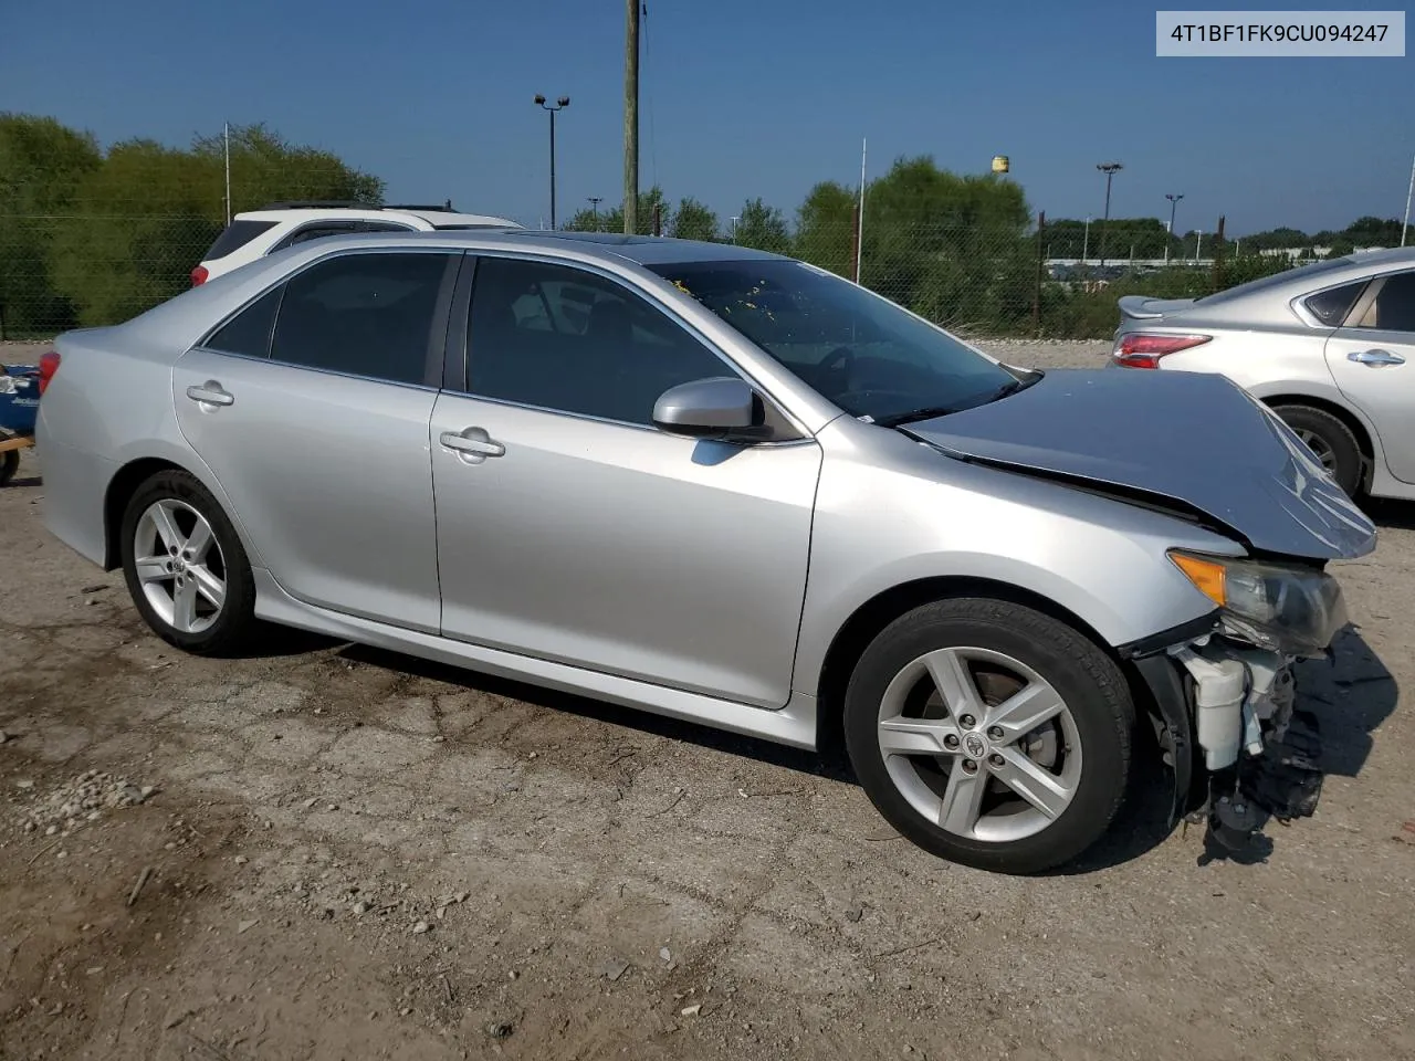
[{"label": "frame around the front door window of the damaged silver sedan", "polygon": [[640,431],[651,431],[654,434],[662,434],[662,431],[652,424],[635,423],[633,420],[614,420],[606,416],[593,416],[590,413],[576,413],[567,409],[552,409],[550,406],[531,405],[529,402],[514,402],[505,398],[490,398],[487,395],[474,393],[467,381],[471,369],[471,334],[470,334],[470,320],[471,320],[471,300],[475,294],[475,273],[480,272],[477,266],[481,259],[497,257],[509,262],[536,262],[539,265],[560,266],[565,269],[579,269],[591,276],[596,276],[616,287],[623,289],[631,296],[638,296],[647,301],[654,310],[662,313],[671,323],[686,331],[693,340],[700,342],[710,354],[713,354],[726,369],[724,375],[736,376],[743,382],[751,385],[751,388],[761,395],[763,402],[768,406],[767,416],[770,417],[773,412],[775,417],[784,424],[785,429],[794,431],[794,436],[787,436],[782,439],[771,439],[768,441],[754,443],[754,446],[794,446],[802,441],[815,441],[815,436],[802,426],[802,423],[771,393],[771,390],[757,381],[750,372],[741,368],[736,361],[733,361],[723,349],[703,335],[691,321],[683,320],[682,315],[674,311],[672,307],[665,306],[659,298],[654,296],[652,291],[644,287],[637,287],[623,276],[617,276],[614,272],[604,269],[591,262],[582,262],[570,257],[558,257],[555,255],[546,253],[524,253],[524,252],[502,252],[502,250],[468,250],[470,267],[463,267],[461,276],[457,280],[457,293],[453,297],[451,304],[451,324],[447,331],[447,355],[446,355],[446,371],[443,389],[450,393],[456,393],[461,398],[470,398],[477,402],[491,402],[495,405],[509,406],[512,409],[526,409],[538,413],[550,413],[553,416],[567,416],[576,420],[587,420],[593,423],[614,424],[617,427],[633,427]]}]

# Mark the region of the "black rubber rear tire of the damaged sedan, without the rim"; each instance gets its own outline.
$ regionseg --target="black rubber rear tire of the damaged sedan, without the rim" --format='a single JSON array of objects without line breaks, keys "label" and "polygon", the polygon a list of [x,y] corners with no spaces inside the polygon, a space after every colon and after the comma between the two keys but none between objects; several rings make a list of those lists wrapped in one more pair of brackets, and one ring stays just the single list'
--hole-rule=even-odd
[{"label": "black rubber rear tire of the damaged sedan, without the rim", "polygon": [[[216,545],[226,569],[226,600],[221,615],[207,630],[188,634],[174,630],[149,604],[143,586],[137,579],[133,545],[137,521],[153,504],[164,499],[183,501],[205,516],[211,523]],[[221,505],[201,482],[185,471],[161,471],[143,482],[123,511],[119,547],[123,559],[123,579],[133,604],[143,621],[160,637],[177,648],[200,655],[219,655],[235,651],[252,632],[255,624],[255,579],[250,562],[241,546],[235,526],[226,518]]]}]

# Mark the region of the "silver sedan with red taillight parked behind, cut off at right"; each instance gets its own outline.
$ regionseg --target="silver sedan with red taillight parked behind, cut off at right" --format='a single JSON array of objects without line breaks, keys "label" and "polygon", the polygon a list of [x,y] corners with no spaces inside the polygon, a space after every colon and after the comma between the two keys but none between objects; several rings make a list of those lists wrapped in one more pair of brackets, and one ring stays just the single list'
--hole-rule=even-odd
[{"label": "silver sedan with red taillight parked behind, cut off at right", "polygon": [[1347,494],[1415,498],[1415,248],[1119,307],[1116,365],[1221,372],[1276,410]]}]

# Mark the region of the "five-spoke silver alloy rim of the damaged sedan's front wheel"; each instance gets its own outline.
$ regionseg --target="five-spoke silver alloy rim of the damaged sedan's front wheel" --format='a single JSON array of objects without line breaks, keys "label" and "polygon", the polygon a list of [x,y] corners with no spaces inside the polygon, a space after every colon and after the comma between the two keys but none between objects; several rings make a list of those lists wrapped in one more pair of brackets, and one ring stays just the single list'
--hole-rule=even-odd
[{"label": "five-spoke silver alloy rim of the damaged sedan's front wheel", "polygon": [[910,806],[971,840],[1034,836],[1081,781],[1081,737],[1061,695],[986,648],[944,648],[908,663],[884,690],[877,733]]}]

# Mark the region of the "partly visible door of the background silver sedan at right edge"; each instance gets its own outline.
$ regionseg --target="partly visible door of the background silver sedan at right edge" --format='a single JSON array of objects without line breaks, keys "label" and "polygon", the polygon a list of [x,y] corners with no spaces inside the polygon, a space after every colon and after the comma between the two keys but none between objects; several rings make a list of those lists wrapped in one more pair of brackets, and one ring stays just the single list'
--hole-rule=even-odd
[{"label": "partly visible door of the background silver sedan at right edge", "polygon": [[1415,273],[1377,283],[1356,320],[1327,340],[1326,362],[1341,393],[1375,424],[1391,474],[1415,482]]}]

